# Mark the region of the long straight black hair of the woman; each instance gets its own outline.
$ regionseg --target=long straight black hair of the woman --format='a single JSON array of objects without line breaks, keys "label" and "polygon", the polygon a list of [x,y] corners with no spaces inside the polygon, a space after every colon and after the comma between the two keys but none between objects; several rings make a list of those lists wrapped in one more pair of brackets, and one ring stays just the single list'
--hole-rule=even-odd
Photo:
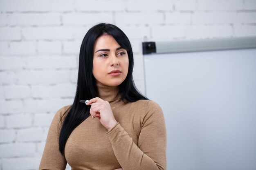
[{"label": "long straight black hair of the woman", "polygon": [[128,74],[124,82],[119,85],[121,99],[124,102],[136,102],[139,99],[147,99],[141,95],[141,93],[139,93],[133,82],[133,54],[132,47],[127,36],[123,31],[121,31],[121,29],[112,24],[100,23],[93,26],[85,34],[81,44],[76,95],[74,98],[74,103],[64,114],[66,116],[63,120],[59,135],[59,150],[63,155],[67,139],[74,128],[81,124],[90,115],[90,106],[80,103],[79,100],[97,97],[96,81],[92,74],[93,48],[94,42],[103,34],[111,35],[122,48],[126,49],[128,53]]}]

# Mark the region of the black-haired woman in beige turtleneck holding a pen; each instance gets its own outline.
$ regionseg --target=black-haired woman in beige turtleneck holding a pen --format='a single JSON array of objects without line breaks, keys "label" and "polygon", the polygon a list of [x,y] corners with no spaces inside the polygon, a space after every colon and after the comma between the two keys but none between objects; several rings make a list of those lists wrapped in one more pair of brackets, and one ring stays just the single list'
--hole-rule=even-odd
[{"label": "black-haired woman in beige turtleneck holding a pen", "polygon": [[117,26],[86,33],[74,103],[54,116],[40,170],[166,169],[162,109],[137,91],[132,69],[130,42]]}]

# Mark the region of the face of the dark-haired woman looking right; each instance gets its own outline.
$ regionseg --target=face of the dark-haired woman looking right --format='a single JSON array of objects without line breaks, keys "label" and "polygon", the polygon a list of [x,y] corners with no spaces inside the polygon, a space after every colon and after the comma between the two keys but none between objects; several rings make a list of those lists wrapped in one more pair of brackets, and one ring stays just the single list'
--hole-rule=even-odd
[{"label": "face of the dark-haired woman looking right", "polygon": [[111,35],[102,35],[95,41],[92,73],[97,83],[118,86],[127,76],[129,59],[125,49]]}]

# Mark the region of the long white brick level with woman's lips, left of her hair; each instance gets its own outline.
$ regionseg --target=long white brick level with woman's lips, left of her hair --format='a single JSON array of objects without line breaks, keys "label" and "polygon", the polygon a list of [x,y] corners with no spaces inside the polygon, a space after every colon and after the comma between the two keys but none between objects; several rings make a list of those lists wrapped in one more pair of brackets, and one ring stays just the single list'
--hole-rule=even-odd
[{"label": "long white brick level with woman's lips, left of her hair", "polygon": [[20,71],[18,73],[18,82],[20,84],[67,83],[69,74],[68,70]]}]

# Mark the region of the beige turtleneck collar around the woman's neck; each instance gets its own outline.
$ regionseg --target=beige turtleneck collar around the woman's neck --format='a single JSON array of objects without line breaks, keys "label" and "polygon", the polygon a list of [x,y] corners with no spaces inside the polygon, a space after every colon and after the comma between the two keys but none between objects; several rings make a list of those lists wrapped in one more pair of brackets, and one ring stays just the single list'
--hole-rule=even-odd
[{"label": "beige turtleneck collar around the woman's neck", "polygon": [[121,102],[118,86],[106,86],[99,82],[96,82],[96,86],[98,88],[98,97],[108,101],[111,107],[114,107]]}]

